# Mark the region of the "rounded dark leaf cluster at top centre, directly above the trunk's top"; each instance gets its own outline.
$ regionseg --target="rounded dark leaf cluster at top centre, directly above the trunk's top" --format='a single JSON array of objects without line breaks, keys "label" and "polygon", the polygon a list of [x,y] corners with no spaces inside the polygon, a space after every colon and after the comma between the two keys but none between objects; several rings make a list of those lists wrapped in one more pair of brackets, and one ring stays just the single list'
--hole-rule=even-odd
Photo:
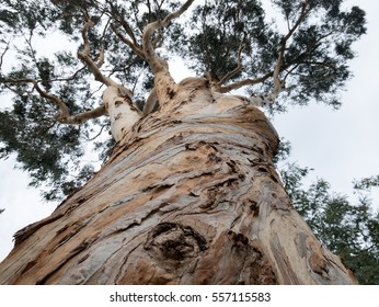
[{"label": "rounded dark leaf cluster at top centre, directly above the trunk's top", "polygon": [[243,76],[266,72],[275,64],[280,36],[266,23],[260,1],[206,1],[194,10],[190,24],[190,35],[176,32],[181,44],[175,46],[198,75],[210,72],[221,80],[237,67],[241,47],[248,61]]}]

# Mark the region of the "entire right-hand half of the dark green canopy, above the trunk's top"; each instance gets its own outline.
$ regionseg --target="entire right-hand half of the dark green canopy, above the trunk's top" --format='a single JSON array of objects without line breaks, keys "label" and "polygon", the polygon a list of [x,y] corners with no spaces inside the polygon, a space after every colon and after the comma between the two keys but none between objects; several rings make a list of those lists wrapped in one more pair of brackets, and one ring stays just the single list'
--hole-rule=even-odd
[{"label": "entire right-hand half of the dark green canopy, above the trunk's top", "polygon": [[[259,0],[206,1],[194,10],[187,35],[183,29],[174,32],[171,47],[192,62],[197,73],[210,72],[217,80],[241,60],[242,69],[230,80],[263,78],[248,89],[262,94],[273,87],[271,77],[282,44],[286,44],[279,78],[287,94],[280,103],[319,101],[338,107],[338,91],[351,77],[347,61],[354,57],[352,44],[366,32],[365,12],[357,7],[343,11],[342,0],[271,2],[282,22],[267,21]],[[306,2],[308,7],[303,7]]]}]

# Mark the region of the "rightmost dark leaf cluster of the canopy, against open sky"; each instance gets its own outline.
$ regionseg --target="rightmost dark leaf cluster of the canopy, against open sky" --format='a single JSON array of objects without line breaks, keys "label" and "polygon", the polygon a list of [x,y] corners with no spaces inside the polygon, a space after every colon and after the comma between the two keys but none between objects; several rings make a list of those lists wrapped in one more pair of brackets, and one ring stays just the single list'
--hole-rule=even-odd
[{"label": "rightmost dark leaf cluster of the canopy, against open sky", "polygon": [[294,35],[285,65],[290,73],[288,82],[301,84],[295,88],[297,103],[308,101],[311,95],[334,107],[341,104],[337,93],[351,77],[347,61],[354,57],[352,43],[366,32],[365,13],[357,7],[349,12],[340,11],[341,3],[323,3],[326,11],[323,18],[301,26]]}]

